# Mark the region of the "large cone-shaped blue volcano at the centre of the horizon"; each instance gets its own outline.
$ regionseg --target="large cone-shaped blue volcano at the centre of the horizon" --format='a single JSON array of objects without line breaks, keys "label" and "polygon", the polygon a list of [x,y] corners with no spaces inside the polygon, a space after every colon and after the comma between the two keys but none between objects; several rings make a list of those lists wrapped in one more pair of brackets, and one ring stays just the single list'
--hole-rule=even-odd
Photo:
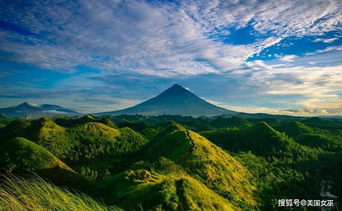
[{"label": "large cone-shaped blue volcano at the centre of the horizon", "polygon": [[113,112],[102,112],[94,115],[120,115],[120,114],[143,114],[157,116],[162,114],[182,116],[215,116],[221,114],[237,114],[232,110],[226,110],[200,99],[192,92],[174,84],[171,88],[163,91],[157,97],[144,101],[133,107]]}]

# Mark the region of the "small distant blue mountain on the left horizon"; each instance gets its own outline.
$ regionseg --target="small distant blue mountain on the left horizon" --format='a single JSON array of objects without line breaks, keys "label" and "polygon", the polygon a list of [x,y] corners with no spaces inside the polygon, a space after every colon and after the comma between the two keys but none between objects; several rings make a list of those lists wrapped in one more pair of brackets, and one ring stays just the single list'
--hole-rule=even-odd
[{"label": "small distant blue mountain on the left horizon", "polygon": [[10,118],[23,117],[23,118],[32,118],[39,116],[73,116],[80,114],[79,112],[75,112],[73,110],[68,110],[66,108],[62,108],[59,105],[36,105],[34,103],[21,103],[17,106],[12,106],[8,108],[0,108],[0,113],[8,116]]}]

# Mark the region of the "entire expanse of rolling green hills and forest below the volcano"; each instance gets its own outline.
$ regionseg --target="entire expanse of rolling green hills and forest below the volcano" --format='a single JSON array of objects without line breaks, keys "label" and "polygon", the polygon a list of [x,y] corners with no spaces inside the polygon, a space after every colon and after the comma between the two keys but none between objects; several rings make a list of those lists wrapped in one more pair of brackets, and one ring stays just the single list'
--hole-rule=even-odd
[{"label": "entire expanse of rolling green hills and forest below the volcano", "polygon": [[340,210],[341,166],[339,119],[0,118],[0,210]]}]

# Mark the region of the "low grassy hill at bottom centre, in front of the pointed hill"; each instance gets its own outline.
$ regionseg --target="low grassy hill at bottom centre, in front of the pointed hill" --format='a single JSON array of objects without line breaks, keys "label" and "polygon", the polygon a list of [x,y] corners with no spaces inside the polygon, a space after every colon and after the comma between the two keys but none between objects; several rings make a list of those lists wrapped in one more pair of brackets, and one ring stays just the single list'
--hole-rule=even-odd
[{"label": "low grassy hill at bottom centre, in front of the pointed hill", "polygon": [[[165,162],[168,166],[165,166]],[[187,175],[174,162],[162,158],[155,164],[155,170],[164,171],[157,173],[142,169],[141,166],[129,169],[105,180],[100,194],[107,203],[116,204],[126,210],[238,209]]]}]

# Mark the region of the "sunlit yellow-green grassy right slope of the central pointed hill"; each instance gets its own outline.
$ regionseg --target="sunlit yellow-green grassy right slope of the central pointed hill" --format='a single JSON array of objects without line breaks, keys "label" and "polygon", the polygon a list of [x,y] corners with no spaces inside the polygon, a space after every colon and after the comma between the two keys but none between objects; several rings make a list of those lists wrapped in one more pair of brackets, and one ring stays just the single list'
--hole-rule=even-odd
[{"label": "sunlit yellow-green grassy right slope of the central pointed hill", "polygon": [[255,206],[255,187],[250,180],[252,175],[235,158],[209,140],[192,131],[187,131],[193,141],[192,153],[179,161],[190,175],[200,177],[200,181],[221,195],[246,201]]}]

